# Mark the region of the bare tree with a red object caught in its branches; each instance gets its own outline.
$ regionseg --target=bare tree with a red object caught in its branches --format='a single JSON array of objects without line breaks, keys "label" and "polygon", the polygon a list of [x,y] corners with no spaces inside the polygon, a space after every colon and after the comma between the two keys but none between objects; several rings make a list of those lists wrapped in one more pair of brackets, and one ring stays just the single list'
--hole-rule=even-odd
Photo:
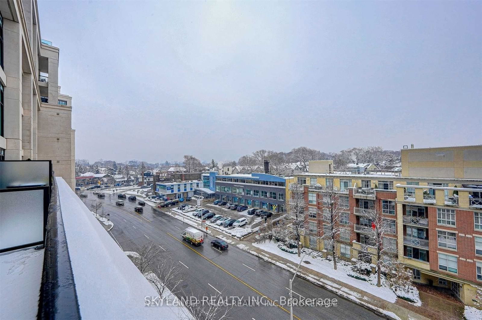
[{"label": "bare tree with a red object caught in its branches", "polygon": [[376,258],[376,285],[381,286],[380,276],[383,267],[386,267],[384,258],[396,252],[396,246],[392,247],[388,244],[390,237],[387,235],[395,234],[395,224],[390,223],[391,219],[383,216],[378,206],[373,210],[365,210],[364,213],[368,218],[371,227],[364,227],[363,231],[369,237],[369,245],[375,248]]}]

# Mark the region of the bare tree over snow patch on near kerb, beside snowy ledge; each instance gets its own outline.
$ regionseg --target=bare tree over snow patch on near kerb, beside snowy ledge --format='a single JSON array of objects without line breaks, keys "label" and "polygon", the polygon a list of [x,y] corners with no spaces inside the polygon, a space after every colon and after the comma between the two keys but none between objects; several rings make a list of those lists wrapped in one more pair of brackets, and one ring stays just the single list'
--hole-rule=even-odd
[{"label": "bare tree over snow patch on near kerb, beside snowy ledge", "polygon": [[145,276],[156,289],[161,299],[168,298],[167,292],[178,293],[178,286],[186,280],[186,275],[181,272],[179,263],[174,260],[173,253],[166,252],[162,259],[156,259]]}]

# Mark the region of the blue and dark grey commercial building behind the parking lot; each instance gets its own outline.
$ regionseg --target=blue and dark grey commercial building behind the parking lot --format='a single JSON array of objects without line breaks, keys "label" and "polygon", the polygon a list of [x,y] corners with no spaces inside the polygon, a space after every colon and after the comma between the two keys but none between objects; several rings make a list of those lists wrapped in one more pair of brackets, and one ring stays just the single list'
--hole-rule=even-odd
[{"label": "blue and dark grey commercial building behind the parking lot", "polygon": [[293,178],[267,173],[218,174],[210,171],[202,174],[203,187],[215,191],[215,199],[275,213],[286,211],[286,190],[290,179]]}]

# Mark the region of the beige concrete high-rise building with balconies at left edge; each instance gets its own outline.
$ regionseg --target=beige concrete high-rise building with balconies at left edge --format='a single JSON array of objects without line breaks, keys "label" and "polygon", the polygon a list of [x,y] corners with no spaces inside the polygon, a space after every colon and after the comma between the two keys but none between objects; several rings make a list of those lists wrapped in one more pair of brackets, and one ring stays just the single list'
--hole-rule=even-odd
[{"label": "beige concrete high-rise building with balconies at left edge", "polygon": [[73,188],[72,97],[60,93],[59,48],[41,39],[36,0],[2,0],[0,13],[0,159],[52,160]]}]

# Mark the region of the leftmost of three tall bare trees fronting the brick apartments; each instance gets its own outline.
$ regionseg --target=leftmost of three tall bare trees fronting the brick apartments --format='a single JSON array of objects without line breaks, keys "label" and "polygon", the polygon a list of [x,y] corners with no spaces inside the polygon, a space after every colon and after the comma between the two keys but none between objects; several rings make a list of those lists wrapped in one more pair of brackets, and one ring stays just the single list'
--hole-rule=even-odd
[{"label": "leftmost of three tall bare trees fronting the brick apartments", "polygon": [[291,224],[290,236],[297,241],[298,256],[300,256],[301,234],[305,231],[307,215],[305,214],[305,193],[303,185],[295,185],[288,199],[286,222]]}]

